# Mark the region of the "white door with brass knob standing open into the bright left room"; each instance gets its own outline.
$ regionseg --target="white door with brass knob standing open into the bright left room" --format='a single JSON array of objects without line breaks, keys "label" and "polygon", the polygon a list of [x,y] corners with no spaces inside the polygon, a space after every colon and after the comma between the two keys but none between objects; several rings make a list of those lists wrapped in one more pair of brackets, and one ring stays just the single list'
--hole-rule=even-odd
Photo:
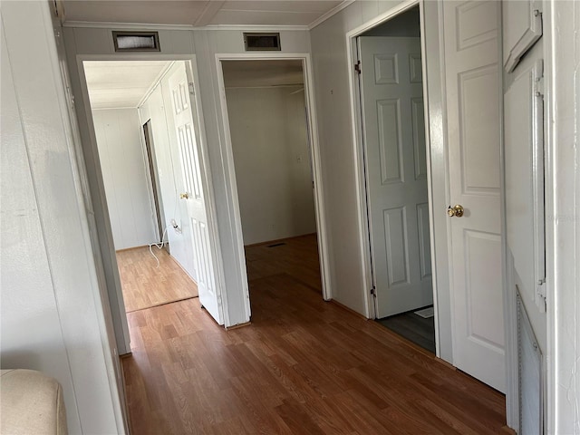
[{"label": "white door with brass knob standing open into the bright left room", "polygon": [[205,185],[205,170],[201,159],[199,127],[195,100],[189,93],[192,74],[186,64],[181,62],[169,76],[171,110],[179,144],[179,161],[183,176],[183,189],[180,199],[188,208],[191,244],[193,246],[194,279],[198,283],[199,302],[208,310],[218,324],[223,324],[223,314],[217,290],[217,272],[213,240],[209,231],[208,208],[206,200],[208,189]]}]

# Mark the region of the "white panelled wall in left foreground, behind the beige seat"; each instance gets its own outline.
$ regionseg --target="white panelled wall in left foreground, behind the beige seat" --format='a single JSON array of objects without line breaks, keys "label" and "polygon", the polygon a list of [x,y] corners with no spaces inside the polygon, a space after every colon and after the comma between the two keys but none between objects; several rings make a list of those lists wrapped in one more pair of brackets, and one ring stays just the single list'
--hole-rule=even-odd
[{"label": "white panelled wall in left foreground, behind the beige seat", "polygon": [[2,368],[61,382],[71,434],[124,433],[48,3],[1,14]]}]

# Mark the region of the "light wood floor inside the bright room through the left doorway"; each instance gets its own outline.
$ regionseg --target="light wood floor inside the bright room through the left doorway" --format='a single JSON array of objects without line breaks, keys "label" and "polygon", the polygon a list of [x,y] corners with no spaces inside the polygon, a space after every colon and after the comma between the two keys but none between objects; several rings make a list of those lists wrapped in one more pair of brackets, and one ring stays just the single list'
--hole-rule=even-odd
[{"label": "light wood floor inside the bright room through the left doorway", "polygon": [[153,253],[160,260],[159,267],[149,247],[117,252],[127,313],[198,295],[198,285],[165,249],[153,247]]}]

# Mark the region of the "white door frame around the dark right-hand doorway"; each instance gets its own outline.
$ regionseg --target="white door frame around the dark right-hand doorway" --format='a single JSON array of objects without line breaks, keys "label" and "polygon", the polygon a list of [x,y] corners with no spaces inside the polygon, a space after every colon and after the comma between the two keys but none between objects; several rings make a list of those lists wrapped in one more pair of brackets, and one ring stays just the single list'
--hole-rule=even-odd
[{"label": "white door frame around the dark right-hand doorway", "polygon": [[[441,291],[441,283],[438,281],[440,275],[444,275],[441,278],[445,279],[449,283],[449,265],[447,261],[447,256],[437,256],[438,252],[435,250],[435,229],[437,229],[438,236],[445,240],[447,244],[447,230],[448,222],[444,225],[440,225],[436,228],[435,221],[439,219],[434,213],[434,204],[436,203],[436,193],[435,190],[439,189],[439,193],[442,193],[445,197],[449,198],[449,191],[447,189],[447,177],[445,177],[445,184],[437,184],[437,180],[434,179],[433,174],[436,171],[442,171],[441,173],[447,174],[447,154],[444,149],[441,148],[441,144],[444,143],[446,139],[444,137],[444,122],[441,118],[432,119],[432,110],[430,102],[430,93],[428,87],[428,75],[427,71],[431,71],[432,68],[439,69],[439,64],[435,65],[430,63],[431,57],[428,56],[426,39],[429,37],[425,32],[425,5],[420,0],[409,0],[397,5],[384,14],[381,14],[371,21],[356,27],[351,32],[346,34],[346,46],[347,46],[347,57],[348,57],[348,68],[349,68],[349,85],[351,92],[351,121],[353,123],[353,153],[355,160],[355,171],[356,171],[356,192],[358,198],[357,211],[359,215],[359,239],[361,243],[362,250],[362,270],[364,275],[362,277],[362,291],[364,296],[364,301],[366,304],[366,315],[369,318],[376,317],[374,298],[371,297],[371,293],[368,289],[372,288],[372,255],[371,246],[369,241],[370,235],[370,224],[368,219],[368,200],[367,200],[367,189],[366,189],[366,170],[364,165],[364,140],[363,140],[363,127],[362,127],[362,110],[361,110],[361,88],[359,84],[358,73],[355,73],[353,66],[355,60],[358,59],[358,50],[356,38],[361,36],[368,30],[372,29],[377,25],[387,23],[392,18],[403,14],[413,7],[419,6],[420,8],[420,46],[421,46],[421,64],[422,64],[422,85],[423,85],[423,102],[425,107],[424,121],[425,121],[425,140],[426,149],[428,152],[427,159],[427,180],[428,180],[428,202],[429,202],[429,215],[430,215],[430,249],[431,249],[431,271],[432,271],[432,287],[433,287],[433,305],[435,308],[435,348],[436,355],[448,362],[452,362],[452,349],[450,340],[441,340],[441,334],[445,333],[450,336],[451,333],[451,323],[449,324],[447,320],[450,320],[450,313],[447,319],[443,319],[440,315],[442,311],[442,305],[446,304],[446,300],[443,298],[445,291]],[[433,56],[435,57],[435,56]],[[363,66],[364,67],[364,66]],[[441,85],[442,86],[442,85]],[[439,106],[439,104],[438,104]],[[435,146],[434,146],[435,144]],[[435,154],[435,155],[434,155]],[[441,156],[441,154],[443,154]],[[441,189],[442,188],[442,189]],[[441,232],[442,231],[442,232]],[[439,239],[439,238],[438,238]],[[449,292],[449,285],[447,286]],[[441,294],[441,295],[440,295]],[[443,296],[443,297],[441,297]],[[441,300],[442,299],[442,300]],[[448,304],[449,305],[449,304]],[[445,311],[449,311],[445,310]],[[447,346],[447,347],[445,347]],[[445,347],[442,349],[442,347]]]}]

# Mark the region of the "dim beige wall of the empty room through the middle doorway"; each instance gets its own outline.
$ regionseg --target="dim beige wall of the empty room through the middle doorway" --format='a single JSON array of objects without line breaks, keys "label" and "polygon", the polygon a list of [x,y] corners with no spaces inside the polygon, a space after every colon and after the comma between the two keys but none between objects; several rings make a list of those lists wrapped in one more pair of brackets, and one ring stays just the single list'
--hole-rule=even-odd
[{"label": "dim beige wall of the empty room through the middle doorway", "polygon": [[316,232],[301,90],[226,90],[244,245]]}]

